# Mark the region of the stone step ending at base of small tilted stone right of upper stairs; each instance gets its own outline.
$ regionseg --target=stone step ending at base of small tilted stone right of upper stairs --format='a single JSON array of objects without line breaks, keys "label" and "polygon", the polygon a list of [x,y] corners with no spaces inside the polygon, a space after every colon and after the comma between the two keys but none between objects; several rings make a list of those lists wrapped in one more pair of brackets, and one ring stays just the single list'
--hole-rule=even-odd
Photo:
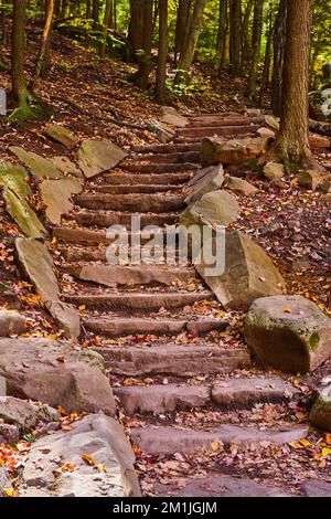
[{"label": "stone step ending at base of small tilted stone right of upper stairs", "polygon": [[164,213],[180,211],[185,204],[182,197],[167,194],[78,194],[75,203],[86,209]]}]

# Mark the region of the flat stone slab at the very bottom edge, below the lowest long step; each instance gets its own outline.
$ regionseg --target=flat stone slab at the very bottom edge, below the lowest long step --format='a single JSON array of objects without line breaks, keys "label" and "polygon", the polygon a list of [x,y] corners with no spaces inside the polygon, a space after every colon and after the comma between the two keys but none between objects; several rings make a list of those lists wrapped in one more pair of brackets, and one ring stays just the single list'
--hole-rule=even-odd
[{"label": "flat stone slab at the very bottom edge, below the lowest long step", "polygon": [[287,496],[280,488],[267,487],[249,478],[214,476],[207,479],[194,479],[177,494],[177,497],[252,498]]}]

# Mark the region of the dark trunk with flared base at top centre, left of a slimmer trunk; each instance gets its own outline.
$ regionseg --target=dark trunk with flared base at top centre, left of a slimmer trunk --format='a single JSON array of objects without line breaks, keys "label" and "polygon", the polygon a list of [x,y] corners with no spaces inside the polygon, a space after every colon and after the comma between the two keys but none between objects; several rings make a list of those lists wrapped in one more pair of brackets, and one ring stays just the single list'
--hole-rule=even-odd
[{"label": "dark trunk with flared base at top centre, left of a slimmer trunk", "polygon": [[151,70],[151,50],[153,39],[153,1],[143,0],[143,30],[142,49],[138,56],[139,68],[136,74],[136,84],[139,88],[148,88],[148,80]]}]

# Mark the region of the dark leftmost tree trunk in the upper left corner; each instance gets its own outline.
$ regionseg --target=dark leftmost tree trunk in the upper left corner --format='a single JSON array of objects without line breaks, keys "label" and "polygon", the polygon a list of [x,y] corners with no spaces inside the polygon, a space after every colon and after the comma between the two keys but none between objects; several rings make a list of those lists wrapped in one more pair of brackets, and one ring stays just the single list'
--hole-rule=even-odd
[{"label": "dark leftmost tree trunk in the upper left corner", "polygon": [[28,106],[28,89],[24,78],[25,9],[26,0],[13,2],[11,35],[11,85],[12,96],[22,109],[26,108]]}]

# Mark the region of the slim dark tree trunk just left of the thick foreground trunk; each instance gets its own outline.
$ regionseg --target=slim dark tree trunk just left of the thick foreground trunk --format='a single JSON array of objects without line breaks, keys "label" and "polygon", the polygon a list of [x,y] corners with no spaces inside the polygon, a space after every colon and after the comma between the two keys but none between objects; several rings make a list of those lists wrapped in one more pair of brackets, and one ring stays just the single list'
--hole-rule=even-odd
[{"label": "slim dark tree trunk just left of the thick foreground trunk", "polygon": [[287,0],[280,0],[278,14],[275,23],[274,35],[274,73],[273,73],[273,92],[271,108],[275,115],[280,116],[281,113],[281,95],[282,95],[282,67],[284,53],[286,43],[286,19],[287,19]]}]

